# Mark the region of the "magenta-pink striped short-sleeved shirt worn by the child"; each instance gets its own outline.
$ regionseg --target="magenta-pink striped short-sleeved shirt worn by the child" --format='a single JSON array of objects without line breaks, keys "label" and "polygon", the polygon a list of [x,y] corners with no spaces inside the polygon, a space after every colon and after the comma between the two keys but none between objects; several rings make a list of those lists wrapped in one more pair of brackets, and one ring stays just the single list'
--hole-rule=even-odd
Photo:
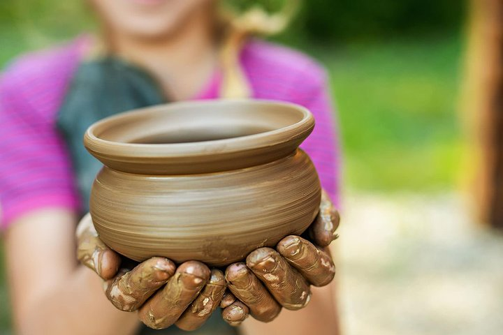
[{"label": "magenta-pink striped short-sleeved shirt worn by the child", "polygon": [[[82,40],[20,57],[0,77],[0,223],[43,207],[78,210],[57,112],[82,56]],[[307,107],[316,119],[302,144],[319,172],[321,184],[338,202],[339,154],[333,110],[323,69],[304,54],[252,40],[240,61],[254,98],[290,101]],[[220,77],[212,77],[194,99],[218,98]]]}]

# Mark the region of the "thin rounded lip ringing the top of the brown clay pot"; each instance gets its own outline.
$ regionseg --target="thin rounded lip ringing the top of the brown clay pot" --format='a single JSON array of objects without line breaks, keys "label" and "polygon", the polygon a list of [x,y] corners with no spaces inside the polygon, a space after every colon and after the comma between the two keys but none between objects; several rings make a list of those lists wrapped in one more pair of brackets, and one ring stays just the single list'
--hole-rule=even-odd
[{"label": "thin rounded lip ringing the top of the brown clay pot", "polygon": [[[147,112],[156,112],[164,110],[177,110],[185,107],[219,106],[219,105],[264,105],[267,106],[284,106],[291,110],[296,110],[302,113],[302,119],[289,126],[256,133],[252,135],[244,135],[240,137],[231,137],[221,140],[208,140],[200,142],[181,142],[181,143],[163,143],[163,144],[145,144],[145,143],[126,143],[103,140],[96,134],[97,131],[103,133],[108,130],[117,121],[124,119],[134,119],[140,114]],[[307,108],[289,103],[285,101],[275,101],[267,99],[225,99],[225,100],[200,100],[200,101],[181,101],[175,103],[167,103],[163,105],[155,105],[152,107],[144,107],[136,110],[122,112],[110,117],[101,119],[95,122],[84,135],[85,147],[92,153],[99,156],[110,156],[113,158],[125,158],[130,161],[135,158],[182,158],[193,156],[209,156],[214,154],[229,154],[236,151],[248,151],[250,149],[259,149],[264,147],[272,147],[276,144],[289,142],[294,139],[305,139],[314,128],[314,117]]]}]

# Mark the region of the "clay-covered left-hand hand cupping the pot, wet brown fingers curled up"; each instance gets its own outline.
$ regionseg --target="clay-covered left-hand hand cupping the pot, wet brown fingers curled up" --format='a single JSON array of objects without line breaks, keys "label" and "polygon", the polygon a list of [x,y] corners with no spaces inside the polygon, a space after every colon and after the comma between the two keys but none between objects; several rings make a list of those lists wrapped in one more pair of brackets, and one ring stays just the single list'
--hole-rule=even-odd
[{"label": "clay-covered left-hand hand cupping the pot, wet brown fingers curled up", "polygon": [[224,295],[224,274],[210,271],[201,262],[184,262],[176,269],[171,260],[154,257],[131,271],[119,270],[121,258],[99,239],[89,214],[80,221],[77,238],[78,259],[103,278],[108,299],[121,311],[138,311],[148,327],[175,324],[184,330],[197,329]]}]

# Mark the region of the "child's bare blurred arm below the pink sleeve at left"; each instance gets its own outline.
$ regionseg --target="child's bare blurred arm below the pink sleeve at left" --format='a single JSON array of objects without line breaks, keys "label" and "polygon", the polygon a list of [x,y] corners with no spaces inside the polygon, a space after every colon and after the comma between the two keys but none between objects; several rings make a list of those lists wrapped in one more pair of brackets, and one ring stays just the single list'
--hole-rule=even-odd
[{"label": "child's bare blurred arm below the pink sleeve at left", "polygon": [[137,316],[114,308],[102,281],[75,261],[75,215],[40,209],[5,234],[16,334],[133,334]]}]

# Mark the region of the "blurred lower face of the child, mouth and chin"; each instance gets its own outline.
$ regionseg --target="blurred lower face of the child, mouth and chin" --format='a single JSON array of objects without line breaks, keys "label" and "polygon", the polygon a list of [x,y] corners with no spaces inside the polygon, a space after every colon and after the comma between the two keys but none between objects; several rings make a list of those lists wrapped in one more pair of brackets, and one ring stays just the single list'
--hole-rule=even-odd
[{"label": "blurred lower face of the child, mouth and chin", "polygon": [[183,29],[192,15],[210,11],[214,0],[88,0],[114,31],[159,38]]}]

